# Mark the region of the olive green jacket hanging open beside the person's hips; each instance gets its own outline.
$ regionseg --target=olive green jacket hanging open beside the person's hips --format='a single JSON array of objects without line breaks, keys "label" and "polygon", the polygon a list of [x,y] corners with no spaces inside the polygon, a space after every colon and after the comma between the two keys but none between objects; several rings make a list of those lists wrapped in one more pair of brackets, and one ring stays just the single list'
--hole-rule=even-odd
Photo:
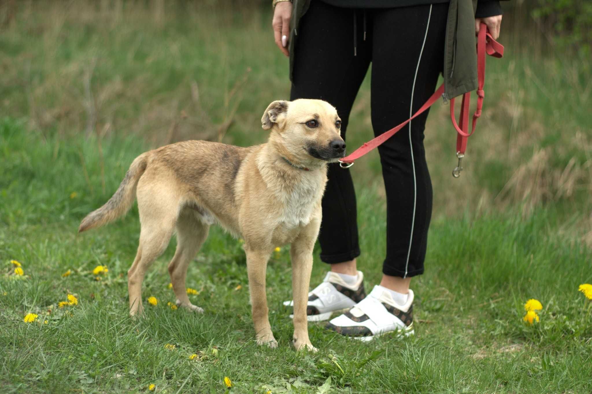
[{"label": "olive green jacket hanging open beside the person's hips", "polygon": [[[298,25],[312,0],[294,0],[290,23],[290,79],[294,69],[294,46]],[[453,98],[477,89],[475,9],[477,0],[451,0],[444,49],[444,97]]]}]

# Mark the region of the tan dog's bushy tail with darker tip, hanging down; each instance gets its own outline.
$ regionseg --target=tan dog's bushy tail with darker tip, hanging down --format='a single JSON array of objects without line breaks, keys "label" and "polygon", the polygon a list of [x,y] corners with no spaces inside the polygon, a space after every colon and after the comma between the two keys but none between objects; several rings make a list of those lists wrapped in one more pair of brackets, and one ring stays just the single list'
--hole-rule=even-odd
[{"label": "tan dog's bushy tail with darker tip, hanging down", "polygon": [[136,200],[136,186],[138,185],[140,176],[146,170],[148,157],[149,152],[136,157],[136,160],[131,163],[130,169],[127,170],[126,177],[121,181],[117,192],[111,196],[105,205],[92,211],[82,219],[78,232],[101,227],[126,214]]}]

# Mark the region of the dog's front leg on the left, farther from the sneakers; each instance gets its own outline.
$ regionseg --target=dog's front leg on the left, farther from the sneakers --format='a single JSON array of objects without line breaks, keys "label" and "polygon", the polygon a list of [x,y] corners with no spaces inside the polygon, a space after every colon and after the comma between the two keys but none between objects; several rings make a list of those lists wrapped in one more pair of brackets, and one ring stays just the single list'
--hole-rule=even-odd
[{"label": "dog's front leg on the left, farther from the sneakers", "polygon": [[253,323],[255,324],[258,345],[267,344],[271,348],[278,347],[269,324],[269,309],[265,294],[265,272],[271,251],[252,250],[245,246],[247,254],[247,273],[249,274],[249,290]]}]

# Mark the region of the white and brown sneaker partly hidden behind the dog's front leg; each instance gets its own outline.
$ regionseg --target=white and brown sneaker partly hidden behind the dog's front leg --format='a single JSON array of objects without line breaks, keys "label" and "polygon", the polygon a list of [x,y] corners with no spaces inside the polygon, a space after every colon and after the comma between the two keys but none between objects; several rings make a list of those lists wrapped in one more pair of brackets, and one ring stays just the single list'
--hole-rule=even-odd
[{"label": "white and brown sneaker partly hidden behind the dog's front leg", "polygon": [[[306,314],[308,321],[328,320],[334,312],[342,312],[366,296],[364,274],[358,271],[358,280],[348,285],[338,274],[327,272],[323,282],[308,293]],[[285,301],[285,306],[294,307],[294,301]],[[290,315],[294,318],[294,315]]]}]

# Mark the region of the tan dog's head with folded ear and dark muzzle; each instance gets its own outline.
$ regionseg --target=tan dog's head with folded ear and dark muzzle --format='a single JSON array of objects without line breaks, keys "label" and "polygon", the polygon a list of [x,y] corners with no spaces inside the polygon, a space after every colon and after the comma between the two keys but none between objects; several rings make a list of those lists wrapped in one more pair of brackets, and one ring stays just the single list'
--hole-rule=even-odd
[{"label": "tan dog's head with folded ear and dark muzzle", "polygon": [[341,119],[326,101],[274,101],[261,124],[263,130],[272,131],[269,140],[300,163],[337,162],[345,156]]}]

